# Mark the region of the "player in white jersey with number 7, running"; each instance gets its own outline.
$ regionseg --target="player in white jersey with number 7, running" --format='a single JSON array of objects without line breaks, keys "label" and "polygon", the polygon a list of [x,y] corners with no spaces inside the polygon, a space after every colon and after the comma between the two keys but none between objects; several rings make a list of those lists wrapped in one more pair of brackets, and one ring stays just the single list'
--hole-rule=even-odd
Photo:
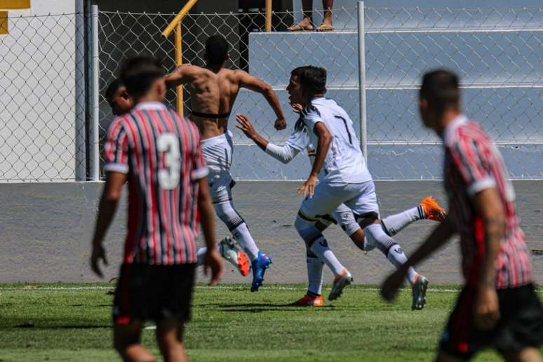
[{"label": "player in white jersey with number 7, running", "polygon": [[[335,275],[329,300],[335,300],[352,282],[349,271],[337,260],[317,223],[344,203],[350,208],[368,240],[387,253],[396,266],[405,262],[405,254],[387,235],[379,221],[379,207],[372,177],[366,168],[352,121],[347,112],[326,93],[326,69],[298,67],[291,72],[287,87],[291,103],[304,107],[295,129],[305,128],[316,156],[311,173],[298,189],[304,195],[295,227],[313,253]],[[424,300],[428,281],[410,269],[408,279],[414,285],[414,298]],[[420,304],[420,303],[417,303]]]}]

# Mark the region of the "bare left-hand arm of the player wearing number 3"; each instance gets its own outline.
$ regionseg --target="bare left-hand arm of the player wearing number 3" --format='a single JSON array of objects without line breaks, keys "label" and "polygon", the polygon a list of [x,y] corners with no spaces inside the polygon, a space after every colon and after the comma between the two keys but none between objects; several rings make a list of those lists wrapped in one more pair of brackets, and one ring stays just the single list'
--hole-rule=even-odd
[{"label": "bare left-hand arm of the player wearing number 3", "polygon": [[104,240],[107,229],[109,229],[109,225],[113,221],[119,199],[121,199],[124,182],[126,182],[125,173],[109,171],[106,174],[104,191],[100,197],[100,206],[98,207],[98,217],[96,217],[93,251],[90,254],[90,267],[96,275],[100,276],[100,278],[102,278],[103,275],[100,266],[98,265],[98,261],[102,260],[102,262],[107,265],[102,241]]}]

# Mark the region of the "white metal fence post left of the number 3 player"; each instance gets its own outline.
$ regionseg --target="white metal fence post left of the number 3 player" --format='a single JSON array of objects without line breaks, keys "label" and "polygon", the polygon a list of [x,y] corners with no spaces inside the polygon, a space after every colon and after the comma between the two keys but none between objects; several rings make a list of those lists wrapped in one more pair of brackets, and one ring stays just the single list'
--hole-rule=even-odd
[{"label": "white metal fence post left of the number 3 player", "polygon": [[90,147],[89,164],[90,179],[100,180],[100,46],[98,43],[98,5],[90,7],[90,46],[92,58],[90,60]]}]

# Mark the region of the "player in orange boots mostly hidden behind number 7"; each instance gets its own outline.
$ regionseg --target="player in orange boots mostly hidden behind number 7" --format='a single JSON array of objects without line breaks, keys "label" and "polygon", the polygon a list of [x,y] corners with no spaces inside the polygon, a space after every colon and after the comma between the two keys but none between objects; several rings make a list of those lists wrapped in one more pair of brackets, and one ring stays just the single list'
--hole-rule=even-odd
[{"label": "player in orange boots mostly hidden behind number 7", "polygon": [[[333,101],[332,101],[333,102]],[[335,104],[335,103],[334,103]],[[293,107],[294,108],[294,107]],[[301,109],[295,108],[295,112],[300,112]],[[257,133],[253,124],[243,114],[237,114],[238,120],[237,127],[243,130],[243,133],[248,138],[253,140],[264,152],[281,161],[282,163],[288,163],[292,159],[302,152],[304,149],[308,149],[309,156],[314,157],[314,150],[310,148],[309,135],[305,130],[301,121],[297,123],[295,130],[290,134],[285,145],[278,146],[269,142]],[[350,122],[350,119],[347,119]],[[428,219],[441,221],[445,217],[445,210],[438,205],[438,203],[427,196],[420,205],[413,208],[409,208],[401,213],[390,215],[381,220],[381,227],[385,234],[388,236],[394,236],[401,232],[405,227],[412,224],[417,220]],[[345,206],[343,203],[338,206],[331,215],[325,215],[319,218],[317,222],[317,228],[324,231],[330,224],[340,224],[343,231],[351,238],[354,244],[364,251],[373,250],[373,248],[379,248],[385,257],[398,266],[398,262],[405,262],[405,255],[403,253],[395,253],[395,249],[399,248],[398,244],[384,244],[384,240],[389,239],[368,239],[364,234],[361,226],[356,222],[354,214],[351,209]],[[376,244],[377,243],[377,244]],[[315,255],[308,253],[307,255],[307,278],[309,279],[309,287],[307,288],[307,294],[300,300],[294,302],[294,305],[300,306],[316,306],[320,307],[324,305],[322,293],[323,284],[323,263],[316,258]],[[413,280],[417,280],[417,274],[413,276]],[[412,309],[422,309],[424,307],[425,296],[424,290],[415,288],[420,284],[412,283],[413,288],[413,304]]]}]

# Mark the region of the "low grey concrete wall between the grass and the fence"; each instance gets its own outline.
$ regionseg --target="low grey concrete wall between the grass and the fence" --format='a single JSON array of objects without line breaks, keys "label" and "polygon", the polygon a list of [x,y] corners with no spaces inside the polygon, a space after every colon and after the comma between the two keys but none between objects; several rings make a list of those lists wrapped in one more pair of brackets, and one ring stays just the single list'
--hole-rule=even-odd
[{"label": "low grey concrete wall between the grass and the fence", "polygon": [[[304,283],[305,249],[293,222],[301,199],[295,196],[299,182],[238,182],[234,201],[246,220],[258,246],[274,258],[266,283]],[[376,182],[382,215],[416,206],[426,195],[443,203],[441,182]],[[530,249],[543,249],[543,182],[514,182],[518,213]],[[88,267],[90,238],[102,184],[67,183],[0,185],[0,283],[18,281],[97,281]],[[125,191],[126,196],[126,191]],[[217,222],[217,238],[227,235]],[[420,221],[395,236],[406,250],[413,250],[434,227]],[[105,248],[109,267],[105,277],[116,276],[126,234],[126,200],[119,206],[107,234]],[[337,257],[351,271],[357,283],[378,283],[391,270],[379,250],[366,254],[358,250],[339,227],[325,232]],[[457,241],[449,243],[420,266],[433,283],[460,283]],[[543,283],[543,255],[533,255],[534,276]],[[203,281],[203,276],[199,276]],[[326,272],[326,282],[332,276]],[[249,283],[227,265],[225,283]]]}]

